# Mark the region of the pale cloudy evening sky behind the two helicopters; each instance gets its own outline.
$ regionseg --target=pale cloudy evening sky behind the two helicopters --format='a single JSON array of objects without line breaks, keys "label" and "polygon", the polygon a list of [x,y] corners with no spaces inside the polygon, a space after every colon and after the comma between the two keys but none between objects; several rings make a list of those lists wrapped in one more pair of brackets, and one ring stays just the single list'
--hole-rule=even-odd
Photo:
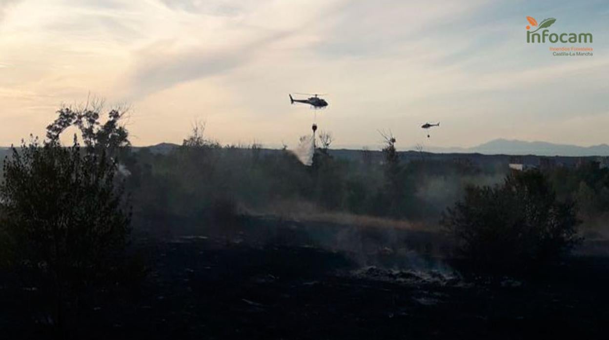
[{"label": "pale cloudy evening sky behind the two helicopters", "polygon": [[[527,44],[526,16],[593,43]],[[607,1],[0,0],[0,145],[91,98],[128,107],[133,145],[205,122],[222,144],[295,147],[314,120],[337,147],[377,148],[379,131],[402,148],[609,143],[608,16]]]}]

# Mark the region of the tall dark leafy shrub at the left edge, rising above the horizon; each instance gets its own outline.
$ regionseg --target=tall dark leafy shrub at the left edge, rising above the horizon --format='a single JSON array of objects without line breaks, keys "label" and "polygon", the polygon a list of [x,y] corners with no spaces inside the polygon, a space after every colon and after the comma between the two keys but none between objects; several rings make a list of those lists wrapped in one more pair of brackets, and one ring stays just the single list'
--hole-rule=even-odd
[{"label": "tall dark leafy shrub at the left edge, rising above the horizon", "polygon": [[[104,125],[97,111],[58,113],[46,141],[12,148],[4,160],[0,243],[4,265],[45,295],[49,305],[43,308],[63,329],[83,297],[116,283],[127,263],[130,208],[114,157],[128,145],[126,131],[116,125],[118,111]],[[59,134],[72,124],[82,132],[84,148],[76,136],[71,147],[60,144]]]}]

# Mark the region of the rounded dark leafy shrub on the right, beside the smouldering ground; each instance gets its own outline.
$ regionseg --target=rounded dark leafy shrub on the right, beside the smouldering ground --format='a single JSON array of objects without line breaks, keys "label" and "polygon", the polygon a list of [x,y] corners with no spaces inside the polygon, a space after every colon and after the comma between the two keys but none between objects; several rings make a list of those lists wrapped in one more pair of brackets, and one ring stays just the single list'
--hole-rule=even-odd
[{"label": "rounded dark leafy shrub on the right, beside the smouldering ground", "polygon": [[529,171],[507,175],[495,187],[468,187],[441,223],[471,262],[486,269],[524,269],[577,245],[576,216],[574,203],[557,201],[546,177]]}]

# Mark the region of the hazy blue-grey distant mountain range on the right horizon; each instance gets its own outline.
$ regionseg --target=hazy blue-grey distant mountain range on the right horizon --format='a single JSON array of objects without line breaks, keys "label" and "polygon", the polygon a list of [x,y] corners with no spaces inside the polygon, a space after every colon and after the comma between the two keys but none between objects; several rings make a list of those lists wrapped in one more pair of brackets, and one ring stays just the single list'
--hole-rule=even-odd
[{"label": "hazy blue-grey distant mountain range on the right horizon", "polygon": [[[412,148],[412,150],[415,150],[415,148]],[[433,153],[535,154],[537,156],[609,156],[609,145],[599,144],[580,147],[578,145],[549,142],[495,139],[471,148],[429,147],[423,151]]]}]

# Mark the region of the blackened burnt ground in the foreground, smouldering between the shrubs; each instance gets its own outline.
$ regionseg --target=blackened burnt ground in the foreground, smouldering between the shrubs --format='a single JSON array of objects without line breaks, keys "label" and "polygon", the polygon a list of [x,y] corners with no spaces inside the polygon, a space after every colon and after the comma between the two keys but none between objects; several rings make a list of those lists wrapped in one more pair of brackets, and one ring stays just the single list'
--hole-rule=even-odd
[{"label": "blackened burnt ground in the foreground, smouldering between the shrubs", "polygon": [[[144,281],[81,302],[75,338],[602,338],[609,258],[477,277],[437,232],[269,219],[141,233]],[[4,277],[7,281],[7,277]],[[1,285],[8,338],[44,338],[35,287]],[[34,315],[32,317],[32,315]]]}]

